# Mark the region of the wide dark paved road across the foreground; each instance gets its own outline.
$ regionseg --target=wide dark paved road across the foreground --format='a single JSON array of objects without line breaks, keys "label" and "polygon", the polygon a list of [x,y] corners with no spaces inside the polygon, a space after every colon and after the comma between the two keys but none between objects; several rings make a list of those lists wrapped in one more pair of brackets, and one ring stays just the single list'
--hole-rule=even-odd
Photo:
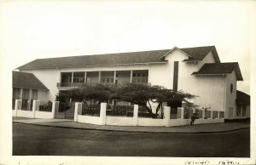
[{"label": "wide dark paved road across the foreground", "polygon": [[13,123],[13,155],[249,157],[250,130],[151,134]]}]

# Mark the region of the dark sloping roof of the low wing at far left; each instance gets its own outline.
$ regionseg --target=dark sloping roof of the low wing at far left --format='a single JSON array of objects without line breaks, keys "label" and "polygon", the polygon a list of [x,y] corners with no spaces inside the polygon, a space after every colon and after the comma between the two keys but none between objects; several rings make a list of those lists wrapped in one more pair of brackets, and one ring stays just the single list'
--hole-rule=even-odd
[{"label": "dark sloping roof of the low wing at far left", "polygon": [[21,71],[13,71],[13,88],[49,90],[35,75]]}]

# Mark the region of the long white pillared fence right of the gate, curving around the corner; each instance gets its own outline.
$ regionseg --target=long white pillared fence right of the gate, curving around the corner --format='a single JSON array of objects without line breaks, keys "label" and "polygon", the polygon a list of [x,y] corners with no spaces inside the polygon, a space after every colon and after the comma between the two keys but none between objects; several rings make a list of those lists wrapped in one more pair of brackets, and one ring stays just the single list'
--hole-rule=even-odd
[{"label": "long white pillared fence right of the gate, curving around the corner", "polygon": [[[100,116],[89,116],[81,115],[83,109],[82,103],[75,103],[75,113],[74,113],[74,122],[84,122],[96,125],[116,125],[116,126],[158,126],[158,127],[172,127],[172,126],[182,126],[189,125],[190,119],[184,119],[184,108],[178,108],[177,117],[171,119],[171,107],[164,107],[164,117],[163,119],[159,118],[148,118],[148,117],[138,117],[138,105],[133,107],[133,117],[111,117],[106,115],[107,103],[101,103],[100,107]],[[218,111],[219,113],[219,111]],[[208,112],[208,114],[210,114]],[[195,120],[195,124],[201,123],[215,123],[215,122],[224,122],[224,118],[205,118],[205,111],[202,111],[201,118]]]}]

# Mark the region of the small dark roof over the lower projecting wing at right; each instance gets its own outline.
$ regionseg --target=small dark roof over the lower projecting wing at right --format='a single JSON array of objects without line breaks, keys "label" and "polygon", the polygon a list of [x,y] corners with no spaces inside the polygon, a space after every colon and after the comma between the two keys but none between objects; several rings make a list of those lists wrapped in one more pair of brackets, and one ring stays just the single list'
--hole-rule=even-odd
[{"label": "small dark roof over the lower projecting wing at right", "polygon": [[193,72],[192,75],[226,75],[234,70],[237,80],[242,81],[240,67],[237,62],[206,63],[199,71]]}]

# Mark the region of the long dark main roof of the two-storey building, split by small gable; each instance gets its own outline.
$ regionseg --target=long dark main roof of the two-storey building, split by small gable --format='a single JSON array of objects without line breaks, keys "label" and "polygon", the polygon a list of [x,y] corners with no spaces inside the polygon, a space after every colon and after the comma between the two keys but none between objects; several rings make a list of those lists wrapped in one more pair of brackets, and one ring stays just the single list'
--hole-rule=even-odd
[{"label": "long dark main roof of the two-storey building, split by small gable", "polygon": [[[191,60],[202,60],[211,50],[216,50],[211,47],[196,47],[196,48],[180,48],[186,54],[189,54]],[[69,56],[49,59],[38,59],[21,65],[17,69],[22,70],[37,70],[37,69],[55,69],[69,67],[85,67],[99,65],[139,65],[139,64],[154,64],[166,63],[162,59],[165,54],[172,49],[152,50],[143,52],[129,52],[119,54],[96,54],[96,55],[81,55]],[[218,56],[218,54],[217,54]],[[217,57],[218,59],[218,57]]]}]

